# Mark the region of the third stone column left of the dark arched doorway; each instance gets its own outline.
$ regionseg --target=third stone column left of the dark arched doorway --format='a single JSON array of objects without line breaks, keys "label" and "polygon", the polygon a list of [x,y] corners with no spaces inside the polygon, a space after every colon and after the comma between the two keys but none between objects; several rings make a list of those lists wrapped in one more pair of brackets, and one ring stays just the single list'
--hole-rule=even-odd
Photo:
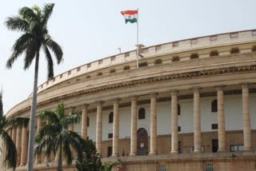
[{"label": "third stone column left of the dark arched doorway", "polygon": [[97,102],[96,149],[102,155],[102,101]]}]

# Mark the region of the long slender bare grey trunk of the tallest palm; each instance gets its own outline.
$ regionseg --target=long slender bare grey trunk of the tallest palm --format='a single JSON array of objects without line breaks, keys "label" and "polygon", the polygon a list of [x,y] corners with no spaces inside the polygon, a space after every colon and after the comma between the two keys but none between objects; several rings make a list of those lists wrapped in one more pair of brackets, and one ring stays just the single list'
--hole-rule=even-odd
[{"label": "long slender bare grey trunk of the tallest palm", "polygon": [[28,148],[28,163],[27,171],[33,171],[34,165],[34,133],[35,133],[35,115],[37,109],[37,97],[38,97],[38,63],[39,63],[39,51],[36,54],[35,67],[34,67],[34,89],[32,97],[32,105],[30,111],[30,137]]}]

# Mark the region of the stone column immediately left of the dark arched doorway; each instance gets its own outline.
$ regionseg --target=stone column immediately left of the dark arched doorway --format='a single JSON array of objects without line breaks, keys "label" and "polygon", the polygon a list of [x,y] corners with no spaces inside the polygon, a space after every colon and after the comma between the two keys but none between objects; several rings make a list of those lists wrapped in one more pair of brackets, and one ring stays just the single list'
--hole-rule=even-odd
[{"label": "stone column immediately left of the dark arched doorway", "polygon": [[131,97],[130,109],[130,156],[137,153],[137,96]]}]

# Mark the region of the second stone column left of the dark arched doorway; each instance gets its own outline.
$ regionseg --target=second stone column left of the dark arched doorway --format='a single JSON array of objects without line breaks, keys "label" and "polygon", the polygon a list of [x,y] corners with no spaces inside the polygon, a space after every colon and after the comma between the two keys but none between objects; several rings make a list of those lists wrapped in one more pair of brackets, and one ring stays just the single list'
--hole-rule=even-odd
[{"label": "second stone column left of the dark arched doorway", "polygon": [[114,121],[113,121],[113,153],[112,156],[119,156],[119,98],[114,99]]}]

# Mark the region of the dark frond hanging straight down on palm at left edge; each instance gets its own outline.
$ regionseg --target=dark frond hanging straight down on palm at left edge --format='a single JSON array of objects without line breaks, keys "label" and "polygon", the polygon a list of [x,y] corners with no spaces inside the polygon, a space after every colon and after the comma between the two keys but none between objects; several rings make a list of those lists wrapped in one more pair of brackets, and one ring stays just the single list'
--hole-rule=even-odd
[{"label": "dark frond hanging straight down on palm at left edge", "polygon": [[2,137],[3,143],[6,145],[6,157],[5,162],[7,162],[7,165],[9,165],[10,168],[15,169],[16,167],[16,161],[17,161],[17,151],[14,144],[14,141],[11,139],[11,137],[4,131],[3,129],[0,130],[0,135]]}]

